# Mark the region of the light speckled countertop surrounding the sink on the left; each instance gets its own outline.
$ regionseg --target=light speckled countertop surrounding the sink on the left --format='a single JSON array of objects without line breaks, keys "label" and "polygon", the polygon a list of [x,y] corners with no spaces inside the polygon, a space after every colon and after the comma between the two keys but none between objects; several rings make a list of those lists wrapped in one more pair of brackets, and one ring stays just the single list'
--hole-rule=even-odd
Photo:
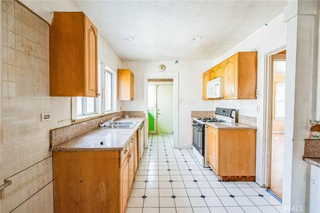
[{"label": "light speckled countertop surrounding the sink on the left", "polygon": [[[134,128],[126,129],[95,128],[59,145],[52,146],[51,151],[121,151],[139,128],[144,118],[116,119],[115,121],[138,121],[138,123]],[[100,144],[101,141],[103,141],[103,144]]]}]

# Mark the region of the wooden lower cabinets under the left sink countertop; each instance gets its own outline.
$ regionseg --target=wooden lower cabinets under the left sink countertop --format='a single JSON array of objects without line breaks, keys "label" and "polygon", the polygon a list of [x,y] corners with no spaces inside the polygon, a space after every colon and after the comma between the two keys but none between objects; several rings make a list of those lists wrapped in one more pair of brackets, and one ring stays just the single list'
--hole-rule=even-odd
[{"label": "wooden lower cabinets under the left sink countertop", "polygon": [[125,212],[138,166],[136,138],[122,151],[54,151],[54,212]]}]

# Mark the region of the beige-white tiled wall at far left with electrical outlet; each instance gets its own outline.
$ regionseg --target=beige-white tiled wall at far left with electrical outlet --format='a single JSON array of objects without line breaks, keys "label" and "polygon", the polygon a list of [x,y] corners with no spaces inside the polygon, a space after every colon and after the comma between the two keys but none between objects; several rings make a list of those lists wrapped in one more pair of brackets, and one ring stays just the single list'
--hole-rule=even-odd
[{"label": "beige-white tiled wall at far left with electrical outlet", "polygon": [[[49,25],[17,1],[1,1],[2,212],[52,212],[50,129],[70,124],[70,98],[49,96]],[[52,120],[41,122],[40,113]],[[2,176],[2,175],[1,175]],[[3,180],[2,180],[3,181]]]}]

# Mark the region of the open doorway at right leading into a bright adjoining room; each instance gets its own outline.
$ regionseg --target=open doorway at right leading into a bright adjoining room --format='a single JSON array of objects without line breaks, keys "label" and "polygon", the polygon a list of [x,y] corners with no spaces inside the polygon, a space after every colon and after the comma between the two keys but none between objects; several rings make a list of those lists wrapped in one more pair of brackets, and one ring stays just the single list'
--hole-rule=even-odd
[{"label": "open doorway at right leading into a bright adjoining room", "polygon": [[284,97],[285,97],[285,54],[281,50],[269,55],[269,73],[266,87],[265,186],[282,199],[283,147],[284,147]]}]

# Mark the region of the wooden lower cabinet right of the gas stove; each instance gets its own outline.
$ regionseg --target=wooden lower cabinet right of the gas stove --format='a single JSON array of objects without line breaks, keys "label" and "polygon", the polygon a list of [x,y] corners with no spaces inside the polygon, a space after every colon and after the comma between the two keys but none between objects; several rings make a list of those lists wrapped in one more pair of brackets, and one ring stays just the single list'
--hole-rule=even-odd
[{"label": "wooden lower cabinet right of the gas stove", "polygon": [[215,129],[207,125],[207,160],[223,181],[255,180],[255,129]]}]

